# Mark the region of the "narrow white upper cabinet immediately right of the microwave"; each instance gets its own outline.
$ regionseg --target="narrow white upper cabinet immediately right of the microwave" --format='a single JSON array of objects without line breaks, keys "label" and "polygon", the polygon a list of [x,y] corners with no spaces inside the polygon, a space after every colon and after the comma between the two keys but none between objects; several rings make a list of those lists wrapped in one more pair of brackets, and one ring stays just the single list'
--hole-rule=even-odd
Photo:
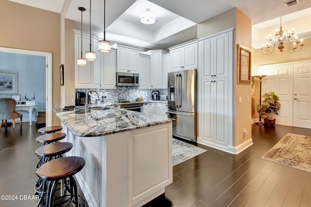
[{"label": "narrow white upper cabinet immediately right of the microwave", "polygon": [[139,88],[150,88],[150,55],[139,54]]}]

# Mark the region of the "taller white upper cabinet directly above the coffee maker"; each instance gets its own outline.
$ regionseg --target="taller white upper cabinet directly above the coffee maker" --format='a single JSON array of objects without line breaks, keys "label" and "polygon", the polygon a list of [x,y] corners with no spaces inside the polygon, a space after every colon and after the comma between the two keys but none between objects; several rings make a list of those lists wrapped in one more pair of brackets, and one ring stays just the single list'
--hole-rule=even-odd
[{"label": "taller white upper cabinet directly above the coffee maker", "polygon": [[151,88],[162,88],[162,56],[166,50],[151,51]]}]

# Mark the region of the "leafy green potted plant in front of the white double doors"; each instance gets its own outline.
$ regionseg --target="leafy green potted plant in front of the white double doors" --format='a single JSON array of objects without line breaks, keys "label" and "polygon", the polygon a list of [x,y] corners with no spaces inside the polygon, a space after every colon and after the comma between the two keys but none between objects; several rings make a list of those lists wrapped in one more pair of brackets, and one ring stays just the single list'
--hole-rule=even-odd
[{"label": "leafy green potted plant in front of the white double doors", "polygon": [[276,118],[274,118],[274,115],[278,115],[281,107],[279,98],[273,91],[265,93],[262,98],[261,104],[256,106],[257,112],[264,119],[266,125],[275,125]]}]

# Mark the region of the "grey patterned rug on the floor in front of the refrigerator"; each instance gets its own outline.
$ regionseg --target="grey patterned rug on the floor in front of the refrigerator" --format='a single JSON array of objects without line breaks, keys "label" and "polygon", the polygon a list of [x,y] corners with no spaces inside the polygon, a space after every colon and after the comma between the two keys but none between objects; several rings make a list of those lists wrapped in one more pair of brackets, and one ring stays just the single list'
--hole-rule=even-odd
[{"label": "grey patterned rug on the floor in front of the refrigerator", "polygon": [[206,149],[173,138],[173,166],[206,151]]}]

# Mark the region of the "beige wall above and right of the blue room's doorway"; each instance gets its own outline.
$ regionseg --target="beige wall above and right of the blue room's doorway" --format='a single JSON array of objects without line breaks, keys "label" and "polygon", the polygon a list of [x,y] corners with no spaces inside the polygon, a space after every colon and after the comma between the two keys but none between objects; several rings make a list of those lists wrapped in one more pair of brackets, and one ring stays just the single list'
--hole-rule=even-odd
[{"label": "beige wall above and right of the blue room's doorway", "polygon": [[[0,46],[52,53],[52,109],[60,108],[60,14],[0,0]],[[52,124],[60,124],[52,115]]]}]

